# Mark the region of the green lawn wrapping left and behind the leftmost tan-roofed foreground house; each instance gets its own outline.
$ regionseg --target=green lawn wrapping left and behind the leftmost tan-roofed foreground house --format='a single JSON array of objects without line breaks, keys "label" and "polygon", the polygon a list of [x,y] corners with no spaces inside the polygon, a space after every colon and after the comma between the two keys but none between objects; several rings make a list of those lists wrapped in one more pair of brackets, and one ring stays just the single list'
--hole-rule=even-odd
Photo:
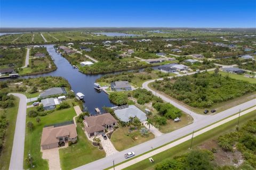
[{"label": "green lawn wrapping left and behind the leftmost tan-roofed foreground house", "polygon": [[[35,109],[35,107],[31,107],[27,109],[27,112],[31,109]],[[40,151],[40,143],[41,143],[41,135],[42,130],[45,125],[53,124],[53,123],[60,123],[65,122],[69,120],[73,120],[73,117],[76,115],[75,110],[73,107],[62,109],[60,111],[54,111],[53,113],[41,116],[41,122],[38,124],[36,123],[35,119],[33,117],[28,117],[26,122],[33,122],[34,123],[34,129],[33,131],[29,131],[28,128],[26,128],[26,135],[25,135],[25,151],[24,151],[24,168],[28,169],[29,166],[25,163],[25,159],[28,156],[28,153],[30,152],[31,156],[34,158],[35,165],[34,169],[49,169],[47,160],[42,159],[42,152]]]}]

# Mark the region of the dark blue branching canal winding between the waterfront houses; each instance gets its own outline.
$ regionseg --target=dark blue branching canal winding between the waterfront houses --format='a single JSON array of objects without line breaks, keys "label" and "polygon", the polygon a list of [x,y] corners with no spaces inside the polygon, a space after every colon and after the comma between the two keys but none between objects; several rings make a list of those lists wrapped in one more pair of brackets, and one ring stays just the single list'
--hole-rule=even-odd
[{"label": "dark blue branching canal winding between the waterfront houses", "polygon": [[54,45],[44,45],[47,48],[47,51],[54,59],[55,65],[57,65],[58,69],[54,72],[38,74],[38,75],[29,75],[22,78],[36,78],[41,76],[59,76],[68,80],[71,85],[72,90],[74,90],[75,94],[77,92],[82,92],[84,97],[84,108],[91,114],[95,114],[94,108],[98,107],[102,111],[102,107],[112,107],[114,104],[110,102],[108,99],[108,95],[105,92],[98,92],[93,88],[93,83],[96,79],[100,78],[103,74],[97,75],[88,75],[83,74],[78,71],[78,69],[73,69],[73,66],[66,60],[66,58],[62,57],[60,54],[55,52]]}]

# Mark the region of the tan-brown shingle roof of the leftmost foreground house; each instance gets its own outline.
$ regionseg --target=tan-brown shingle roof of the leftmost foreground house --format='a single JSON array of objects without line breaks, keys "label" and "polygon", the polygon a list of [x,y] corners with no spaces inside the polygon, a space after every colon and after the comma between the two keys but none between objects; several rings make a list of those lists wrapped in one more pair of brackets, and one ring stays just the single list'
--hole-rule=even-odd
[{"label": "tan-brown shingle roof of the leftmost foreground house", "polygon": [[76,138],[76,126],[75,124],[69,124],[65,126],[58,126],[54,128],[54,126],[48,126],[43,128],[42,138],[41,138],[41,146],[42,145],[50,145],[51,143],[59,142],[58,137],[64,137],[69,135],[69,138]]}]

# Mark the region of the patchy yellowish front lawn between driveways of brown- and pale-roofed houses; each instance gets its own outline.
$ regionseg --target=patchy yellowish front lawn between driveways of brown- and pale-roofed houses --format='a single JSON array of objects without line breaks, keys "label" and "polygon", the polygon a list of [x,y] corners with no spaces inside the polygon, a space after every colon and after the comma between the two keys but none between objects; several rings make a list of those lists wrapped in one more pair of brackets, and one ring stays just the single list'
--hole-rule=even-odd
[{"label": "patchy yellowish front lawn between driveways of brown- and pale-roofed houses", "polygon": [[148,137],[141,137],[139,130],[134,130],[129,133],[129,128],[130,127],[120,126],[111,135],[110,140],[115,146],[116,150],[122,151],[154,138],[154,134],[152,133],[149,133]]}]

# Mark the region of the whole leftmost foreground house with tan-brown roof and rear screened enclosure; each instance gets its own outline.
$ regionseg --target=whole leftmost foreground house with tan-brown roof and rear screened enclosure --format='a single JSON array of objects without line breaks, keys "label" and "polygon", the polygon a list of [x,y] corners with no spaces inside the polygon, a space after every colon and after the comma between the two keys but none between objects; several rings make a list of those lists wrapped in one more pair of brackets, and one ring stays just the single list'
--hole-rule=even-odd
[{"label": "whole leftmost foreground house with tan-brown roof and rear screened enclosure", "polygon": [[61,142],[76,142],[77,132],[73,121],[48,125],[43,128],[41,148],[58,148]]}]

